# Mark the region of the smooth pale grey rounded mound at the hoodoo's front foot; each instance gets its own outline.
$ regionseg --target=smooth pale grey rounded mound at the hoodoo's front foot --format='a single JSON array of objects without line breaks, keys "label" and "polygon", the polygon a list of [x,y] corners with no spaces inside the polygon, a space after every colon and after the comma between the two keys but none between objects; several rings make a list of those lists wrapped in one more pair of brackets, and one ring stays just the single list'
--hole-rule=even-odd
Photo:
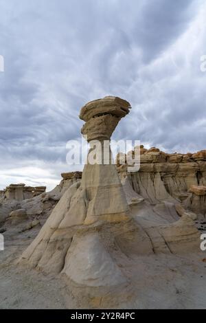
[{"label": "smooth pale grey rounded mound at the hoodoo's front foot", "polygon": [[106,252],[97,232],[75,236],[62,274],[79,285],[90,287],[111,287],[126,281],[111,255]]}]

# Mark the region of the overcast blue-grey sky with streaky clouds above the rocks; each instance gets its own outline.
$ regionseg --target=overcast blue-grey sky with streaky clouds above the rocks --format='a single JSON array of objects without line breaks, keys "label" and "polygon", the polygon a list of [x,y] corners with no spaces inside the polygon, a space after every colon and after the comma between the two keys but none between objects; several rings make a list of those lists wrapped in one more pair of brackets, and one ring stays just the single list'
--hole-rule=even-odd
[{"label": "overcast blue-grey sky with streaky clouds above the rocks", "polygon": [[0,188],[53,188],[80,108],[120,96],[114,139],[206,148],[205,0],[0,0]]}]

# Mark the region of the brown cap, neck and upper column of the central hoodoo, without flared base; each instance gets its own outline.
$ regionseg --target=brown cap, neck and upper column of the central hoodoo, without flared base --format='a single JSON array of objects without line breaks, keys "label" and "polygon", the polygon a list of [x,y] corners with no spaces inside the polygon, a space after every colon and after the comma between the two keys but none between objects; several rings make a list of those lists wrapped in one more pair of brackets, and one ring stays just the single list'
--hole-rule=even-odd
[{"label": "brown cap, neck and upper column of the central hoodoo, without flared base", "polygon": [[[86,122],[82,134],[87,135],[88,142],[97,141],[96,151],[101,164],[88,164],[84,167],[80,190],[87,191],[89,204],[85,224],[95,221],[122,221],[128,219],[128,203],[119,180],[117,170],[112,164],[109,140],[119,120],[129,113],[130,104],[115,97],[106,97],[86,104],[80,118]],[[104,160],[104,145],[108,142],[108,160]],[[106,164],[107,163],[107,164]],[[115,202],[115,203],[114,203]]]}]

